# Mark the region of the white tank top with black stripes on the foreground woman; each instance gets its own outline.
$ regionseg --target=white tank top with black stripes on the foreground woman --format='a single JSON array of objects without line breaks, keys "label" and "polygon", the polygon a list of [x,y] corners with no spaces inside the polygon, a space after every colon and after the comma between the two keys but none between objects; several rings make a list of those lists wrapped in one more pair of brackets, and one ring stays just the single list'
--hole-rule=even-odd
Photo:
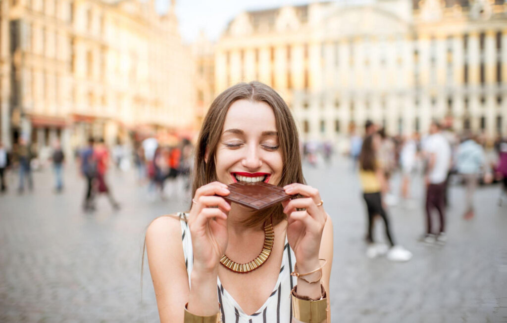
[{"label": "white tank top with black stripes on the foreground woman", "polygon": [[[192,238],[190,236],[187,224],[187,214],[178,213],[182,225],[182,243],[183,254],[185,255],[185,266],[190,277],[193,267]],[[291,276],[294,271],[296,257],[291,246],[287,243],[285,235],[285,244],[283,248],[282,263],[280,273],[276,281],[273,292],[259,310],[251,315],[247,315],[238,303],[232,298],[227,290],[222,286],[220,278],[216,277],[216,292],[218,293],[220,312],[223,323],[290,323],[292,318],[291,290],[296,286],[297,278]],[[190,279],[189,279],[190,285]]]}]

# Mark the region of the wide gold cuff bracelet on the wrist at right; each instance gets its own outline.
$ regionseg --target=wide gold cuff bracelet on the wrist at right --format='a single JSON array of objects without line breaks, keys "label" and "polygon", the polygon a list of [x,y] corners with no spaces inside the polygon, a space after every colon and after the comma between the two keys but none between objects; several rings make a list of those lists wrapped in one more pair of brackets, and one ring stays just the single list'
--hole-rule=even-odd
[{"label": "wide gold cuff bracelet on the wrist at right", "polygon": [[324,287],[320,284],[322,295],[319,300],[297,296],[296,285],[291,292],[293,316],[305,323],[321,323],[328,318],[328,299]]}]

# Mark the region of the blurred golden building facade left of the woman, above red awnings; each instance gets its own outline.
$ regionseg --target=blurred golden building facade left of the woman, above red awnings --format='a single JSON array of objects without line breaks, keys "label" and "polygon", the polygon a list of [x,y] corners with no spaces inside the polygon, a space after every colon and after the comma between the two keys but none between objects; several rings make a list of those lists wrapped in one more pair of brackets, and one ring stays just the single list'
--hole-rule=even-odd
[{"label": "blurred golden building facade left of the woman, above red awnings", "polygon": [[153,0],[6,1],[11,77],[4,142],[25,136],[46,146],[60,138],[74,148],[90,136],[113,143],[137,131],[194,126],[194,63],[174,1],[164,15]]}]

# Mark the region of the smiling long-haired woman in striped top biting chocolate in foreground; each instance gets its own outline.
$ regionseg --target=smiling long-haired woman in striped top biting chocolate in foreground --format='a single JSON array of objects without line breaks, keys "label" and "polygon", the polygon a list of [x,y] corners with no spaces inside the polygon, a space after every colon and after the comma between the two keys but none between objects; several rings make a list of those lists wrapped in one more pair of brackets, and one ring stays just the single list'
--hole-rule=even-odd
[{"label": "smiling long-haired woman in striped top biting chocolate in foreground", "polygon": [[[310,303],[319,307],[311,319],[330,321],[333,228],[318,190],[304,185],[298,142],[287,105],[264,84],[241,83],[213,101],[196,146],[190,212],[154,220],[146,235],[161,322],[309,321]],[[222,197],[238,180],[303,197],[254,212]],[[271,253],[262,261],[271,226]],[[238,273],[221,263],[224,255],[261,264]]]}]

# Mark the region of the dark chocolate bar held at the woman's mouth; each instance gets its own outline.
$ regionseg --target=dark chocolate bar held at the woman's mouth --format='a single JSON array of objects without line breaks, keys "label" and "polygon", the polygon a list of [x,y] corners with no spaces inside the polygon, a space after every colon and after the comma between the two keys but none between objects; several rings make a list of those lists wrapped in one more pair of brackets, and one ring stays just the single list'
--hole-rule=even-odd
[{"label": "dark chocolate bar held at the woman's mouth", "polygon": [[227,188],[231,193],[223,196],[225,200],[256,210],[271,207],[292,197],[285,193],[283,187],[264,182],[236,182],[228,185]]}]

